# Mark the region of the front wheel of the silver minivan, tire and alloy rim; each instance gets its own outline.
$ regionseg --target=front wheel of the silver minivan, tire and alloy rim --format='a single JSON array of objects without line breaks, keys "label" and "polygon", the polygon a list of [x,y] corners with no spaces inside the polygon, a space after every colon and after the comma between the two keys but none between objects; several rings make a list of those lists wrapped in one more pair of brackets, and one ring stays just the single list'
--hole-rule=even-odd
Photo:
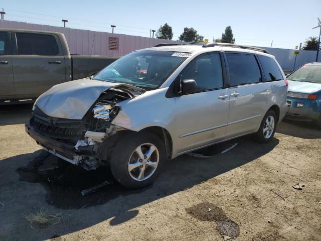
[{"label": "front wheel of the silver minivan, tire and alloy rim", "polygon": [[[148,151],[151,152],[149,158]],[[137,189],[153,183],[162,171],[165,161],[166,149],[159,137],[150,132],[128,133],[115,146],[110,168],[121,185]]]}]

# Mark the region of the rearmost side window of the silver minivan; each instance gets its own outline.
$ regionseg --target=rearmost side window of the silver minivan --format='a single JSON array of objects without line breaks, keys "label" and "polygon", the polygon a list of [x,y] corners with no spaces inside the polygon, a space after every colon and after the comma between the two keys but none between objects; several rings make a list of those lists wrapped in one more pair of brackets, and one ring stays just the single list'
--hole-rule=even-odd
[{"label": "rearmost side window of the silver minivan", "polygon": [[263,55],[258,55],[257,57],[259,58],[262,65],[263,73],[265,75],[265,81],[275,81],[283,79],[281,71],[275,63],[274,59]]}]

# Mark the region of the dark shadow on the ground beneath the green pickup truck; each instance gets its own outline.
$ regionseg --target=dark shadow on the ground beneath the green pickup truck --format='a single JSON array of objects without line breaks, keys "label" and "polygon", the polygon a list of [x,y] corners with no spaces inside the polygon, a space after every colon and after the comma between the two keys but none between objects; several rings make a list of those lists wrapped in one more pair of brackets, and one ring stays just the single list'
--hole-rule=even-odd
[{"label": "dark shadow on the ground beneath the green pickup truck", "polygon": [[33,104],[0,105],[0,126],[24,124],[31,117]]}]

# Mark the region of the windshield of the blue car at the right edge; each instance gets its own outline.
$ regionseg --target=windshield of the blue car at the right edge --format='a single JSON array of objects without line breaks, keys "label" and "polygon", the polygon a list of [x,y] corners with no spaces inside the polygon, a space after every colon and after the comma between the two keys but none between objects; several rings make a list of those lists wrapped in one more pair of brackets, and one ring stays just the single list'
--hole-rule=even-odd
[{"label": "windshield of the blue car at the right edge", "polygon": [[321,65],[303,65],[287,76],[288,80],[321,83]]}]

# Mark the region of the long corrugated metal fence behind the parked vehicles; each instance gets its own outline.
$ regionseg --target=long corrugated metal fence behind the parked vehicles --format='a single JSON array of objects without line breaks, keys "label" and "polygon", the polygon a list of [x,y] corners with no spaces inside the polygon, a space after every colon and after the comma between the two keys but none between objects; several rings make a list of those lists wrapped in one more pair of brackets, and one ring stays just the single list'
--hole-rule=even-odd
[{"label": "long corrugated metal fence behind the parked vehicles", "polygon": [[[93,54],[93,55],[125,55],[137,49],[149,48],[160,43],[182,43],[164,39],[153,39],[125,34],[111,34],[82,29],[62,28],[49,25],[29,24],[16,21],[0,21],[0,28],[4,29],[27,29],[44,30],[63,33],[67,39],[71,54]],[[118,50],[109,49],[109,37],[118,38]],[[299,50],[296,56],[292,49],[266,48],[275,56],[283,70],[294,70],[301,65],[315,62],[316,51]],[[320,54],[321,55],[321,54]],[[318,61],[321,61],[319,55]],[[295,61],[295,64],[294,64]]]}]

